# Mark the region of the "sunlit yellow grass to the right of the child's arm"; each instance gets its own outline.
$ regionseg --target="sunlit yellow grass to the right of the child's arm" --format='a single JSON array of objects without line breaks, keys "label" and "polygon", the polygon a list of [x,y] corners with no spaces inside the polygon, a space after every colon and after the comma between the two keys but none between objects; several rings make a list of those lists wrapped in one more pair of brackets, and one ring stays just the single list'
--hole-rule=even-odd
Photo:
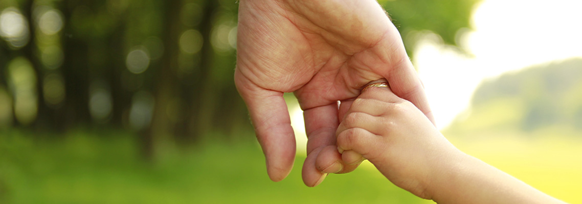
[{"label": "sunlit yellow grass to the right of the child's arm", "polygon": [[449,139],[461,151],[546,194],[582,203],[582,137],[571,127],[552,126],[534,133],[485,131]]}]

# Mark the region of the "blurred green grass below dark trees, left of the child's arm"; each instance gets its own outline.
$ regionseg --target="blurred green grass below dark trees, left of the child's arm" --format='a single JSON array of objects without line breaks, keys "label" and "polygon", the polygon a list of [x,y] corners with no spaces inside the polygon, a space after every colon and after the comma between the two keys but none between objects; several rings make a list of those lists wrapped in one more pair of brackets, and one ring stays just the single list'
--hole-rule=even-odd
[{"label": "blurred green grass below dark trees, left of the child's arm", "polygon": [[1,133],[0,203],[431,202],[365,166],[305,187],[304,158],[288,178],[272,182],[254,143],[206,142],[147,162],[131,134],[76,131],[42,139],[54,136]]}]

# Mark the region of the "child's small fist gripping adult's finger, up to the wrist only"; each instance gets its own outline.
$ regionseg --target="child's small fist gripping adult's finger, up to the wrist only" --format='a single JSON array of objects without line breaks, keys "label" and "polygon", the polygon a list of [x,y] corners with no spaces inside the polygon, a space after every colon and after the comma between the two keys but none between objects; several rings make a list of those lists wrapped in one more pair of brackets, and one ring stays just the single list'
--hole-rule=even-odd
[{"label": "child's small fist gripping adult's finger, up to the wrist only", "polygon": [[463,155],[423,112],[388,87],[365,89],[336,136],[346,164],[368,159],[393,184],[425,199],[432,196],[432,178]]}]

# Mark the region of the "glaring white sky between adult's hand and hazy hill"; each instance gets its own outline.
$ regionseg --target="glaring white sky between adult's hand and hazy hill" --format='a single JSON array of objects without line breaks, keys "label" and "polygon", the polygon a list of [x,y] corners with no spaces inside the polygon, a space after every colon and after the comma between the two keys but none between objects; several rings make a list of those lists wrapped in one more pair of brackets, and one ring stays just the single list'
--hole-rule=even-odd
[{"label": "glaring white sky between adult's hand and hazy hill", "polygon": [[439,128],[469,106],[477,85],[524,67],[582,56],[582,2],[485,0],[473,15],[473,31],[460,33],[458,48],[427,34],[414,65],[423,80]]}]

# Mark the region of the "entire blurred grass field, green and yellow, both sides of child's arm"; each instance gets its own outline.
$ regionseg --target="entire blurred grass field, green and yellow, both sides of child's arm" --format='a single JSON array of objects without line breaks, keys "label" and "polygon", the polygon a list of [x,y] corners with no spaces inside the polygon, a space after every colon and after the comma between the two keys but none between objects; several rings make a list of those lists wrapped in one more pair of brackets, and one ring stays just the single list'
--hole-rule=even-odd
[{"label": "entire blurred grass field, green and yellow, both sides of child's arm", "polygon": [[[395,187],[369,163],[308,188],[300,177],[304,158],[297,158],[288,178],[272,182],[254,141],[203,142],[147,162],[130,133],[31,135],[0,136],[0,203],[432,203]],[[542,191],[582,202],[580,139],[452,141]]]}]

